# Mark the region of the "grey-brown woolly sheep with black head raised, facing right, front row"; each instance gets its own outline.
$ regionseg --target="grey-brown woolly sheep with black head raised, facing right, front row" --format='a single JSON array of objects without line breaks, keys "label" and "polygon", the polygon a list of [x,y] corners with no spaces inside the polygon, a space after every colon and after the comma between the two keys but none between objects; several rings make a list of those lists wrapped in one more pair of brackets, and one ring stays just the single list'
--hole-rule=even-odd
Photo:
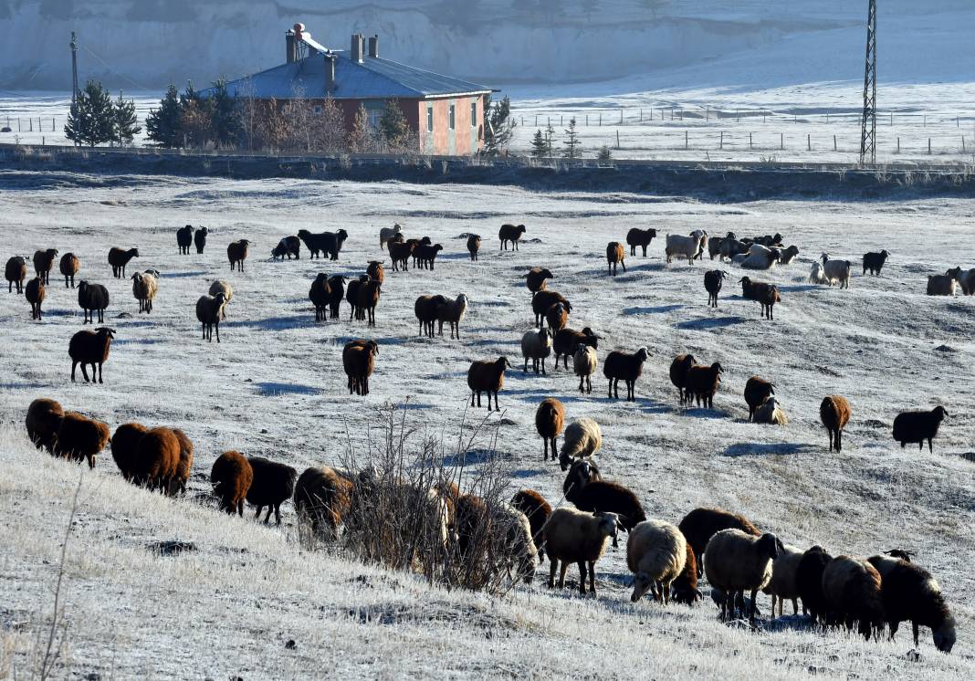
[{"label": "grey-brown woolly sheep with black head raised, facing right, front row", "polygon": [[752,592],[749,621],[756,617],[756,596],[772,578],[772,560],[782,550],[782,542],[773,534],[761,537],[736,529],[715,534],[704,549],[704,572],[708,584],[725,594],[722,619],[734,615],[735,595]]}]

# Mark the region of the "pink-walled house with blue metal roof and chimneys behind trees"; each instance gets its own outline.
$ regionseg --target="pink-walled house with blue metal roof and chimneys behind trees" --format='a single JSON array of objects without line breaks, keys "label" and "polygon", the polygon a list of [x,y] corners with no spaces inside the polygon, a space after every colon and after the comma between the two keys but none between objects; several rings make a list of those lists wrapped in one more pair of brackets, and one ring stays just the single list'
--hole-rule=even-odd
[{"label": "pink-walled house with blue metal roof and chimneys behind trees", "polygon": [[[323,47],[304,25],[285,33],[287,60],[280,66],[227,84],[230,95],[286,101],[295,95],[313,105],[331,96],[351,130],[360,105],[375,125],[389,99],[403,110],[427,154],[465,156],[484,146],[485,86],[379,57],[379,36],[352,36],[347,55]],[[204,92],[206,94],[206,91]],[[321,112],[318,106],[313,107]]]}]

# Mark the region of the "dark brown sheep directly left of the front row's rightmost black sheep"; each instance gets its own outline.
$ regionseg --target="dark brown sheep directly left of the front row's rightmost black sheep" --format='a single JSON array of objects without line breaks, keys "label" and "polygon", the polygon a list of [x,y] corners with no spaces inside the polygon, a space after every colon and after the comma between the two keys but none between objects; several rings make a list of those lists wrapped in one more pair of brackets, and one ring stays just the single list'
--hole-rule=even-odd
[{"label": "dark brown sheep directly left of the front row's rightmost black sheep", "polygon": [[883,627],[883,600],[880,573],[860,558],[838,555],[823,569],[823,596],[829,608],[829,619],[846,624],[859,624],[857,630],[870,640],[872,633]]}]

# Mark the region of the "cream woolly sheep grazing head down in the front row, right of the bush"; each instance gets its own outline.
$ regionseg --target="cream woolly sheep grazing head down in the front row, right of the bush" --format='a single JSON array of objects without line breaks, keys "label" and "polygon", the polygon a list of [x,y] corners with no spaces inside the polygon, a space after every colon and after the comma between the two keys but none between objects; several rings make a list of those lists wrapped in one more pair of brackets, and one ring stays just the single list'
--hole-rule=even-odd
[{"label": "cream woolly sheep grazing head down in the front row, right of the bush", "polygon": [[671,523],[644,520],[634,527],[626,542],[626,566],[634,575],[630,602],[650,591],[655,601],[669,603],[671,584],[683,572],[686,560],[687,541]]}]

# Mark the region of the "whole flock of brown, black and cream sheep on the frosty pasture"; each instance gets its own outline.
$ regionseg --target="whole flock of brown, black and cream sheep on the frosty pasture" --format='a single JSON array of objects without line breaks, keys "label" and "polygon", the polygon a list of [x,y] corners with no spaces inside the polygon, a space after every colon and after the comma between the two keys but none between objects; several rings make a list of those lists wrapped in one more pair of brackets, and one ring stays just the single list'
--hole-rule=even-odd
[{"label": "whole flock of brown, black and cream sheep on the frosty pasture", "polygon": [[[195,245],[197,252],[203,253],[207,234],[206,228],[194,230],[189,225],[177,230],[179,252],[188,253],[190,246]],[[498,234],[500,247],[507,248],[510,244],[518,249],[525,234],[525,225],[503,225]],[[641,247],[645,256],[646,248],[655,236],[652,229],[631,230],[626,238],[630,255],[636,255],[637,247]],[[282,239],[272,250],[272,257],[298,258],[303,243],[312,258],[324,253],[336,260],[347,238],[344,230],[322,234],[301,230],[296,236]],[[432,244],[428,238],[406,239],[400,225],[381,230],[379,244],[388,249],[394,271],[409,270],[410,258],[414,270],[432,271],[438,253],[443,250],[443,246]],[[479,235],[467,235],[467,249],[474,262],[479,260],[481,244]],[[244,271],[249,246],[247,240],[227,246],[231,270]],[[705,251],[712,260],[728,258],[744,269],[767,270],[777,264],[791,263],[799,248],[783,246],[780,235],[739,240],[730,233],[722,238],[709,238],[703,230],[696,230],[687,236],[666,237],[668,262],[677,257],[693,263],[703,259]],[[59,251],[53,248],[38,250],[33,258],[37,276],[25,287],[25,259],[15,256],[7,263],[8,290],[13,291],[16,284],[18,292],[24,292],[31,305],[32,319],[41,319],[45,285],[50,284],[50,272],[58,254]],[[124,278],[126,266],[138,255],[137,248],[112,248],[108,261],[113,276]],[[864,273],[870,270],[879,275],[888,255],[886,250],[865,254]],[[609,276],[615,276],[617,266],[626,271],[624,258],[622,244],[611,242],[606,246]],[[823,254],[821,261],[813,264],[809,280],[848,287],[850,268],[850,261]],[[59,270],[65,286],[73,287],[74,276],[80,271],[79,259],[73,253],[65,253],[59,260]],[[710,306],[717,307],[726,276],[723,270],[705,274]],[[159,291],[159,278],[159,273],[154,270],[132,276],[133,295],[139,303],[139,312],[151,314]],[[531,268],[524,279],[532,294],[535,325],[522,338],[523,371],[529,370],[530,362],[534,373],[546,373],[545,361],[553,353],[556,367],[562,361],[567,369],[571,358],[574,374],[579,378],[578,390],[591,393],[591,379],[599,366],[597,351],[602,336],[588,326],[581,330],[567,326],[574,311],[565,296],[549,290],[548,281],[554,279],[549,269]],[[383,263],[379,260],[370,261],[366,272],[356,279],[318,275],[308,293],[315,308],[316,322],[337,319],[344,299],[350,306],[350,320],[375,325],[375,310],[384,281]],[[743,277],[740,284],[743,297],[758,301],[762,317],[773,320],[773,307],[781,300],[777,287],[749,277]],[[956,268],[945,275],[932,276],[927,292],[951,295],[956,286],[966,294],[975,293],[975,269],[965,272]],[[77,290],[85,322],[94,323],[97,315],[98,323],[103,323],[104,311],[109,304],[107,289],[100,284],[81,281]],[[202,324],[205,339],[209,340],[215,331],[219,342],[219,322],[226,319],[227,306],[232,299],[232,285],[218,280],[197,301],[197,319]],[[436,329],[437,334],[443,336],[446,322],[450,338],[459,340],[461,322],[468,306],[469,300],[464,294],[418,297],[414,315],[419,335],[433,338]],[[68,348],[72,381],[80,363],[86,381],[90,380],[87,371],[90,366],[93,371],[91,381],[96,381],[97,369],[98,383],[102,382],[102,365],[108,359],[114,335],[115,331],[105,326],[74,334]],[[369,394],[369,379],[377,355],[378,344],[374,340],[353,340],[344,346],[342,363],[350,394]],[[645,347],[633,353],[613,351],[606,354],[603,369],[609,398],[619,397],[618,384],[623,381],[626,398],[636,399],[636,383],[648,357]],[[467,373],[471,405],[481,406],[481,397],[487,394],[488,411],[492,409],[492,401],[493,408],[499,409],[498,394],[503,390],[505,372],[510,368],[511,361],[506,357],[472,362]],[[719,392],[722,372],[721,362],[699,364],[693,356],[684,354],[673,360],[670,379],[679,391],[682,405],[695,401],[710,408]],[[788,423],[770,381],[753,376],[746,384],[744,400],[750,421]],[[823,398],[820,418],[829,433],[831,451],[841,450],[842,432],[850,416],[850,404],[845,397]],[[901,413],[894,420],[894,439],[902,446],[917,442],[923,447],[923,442],[927,441],[929,449],[933,450],[932,439],[945,416],[947,412],[941,406],[931,411]],[[26,426],[28,435],[39,448],[66,459],[87,460],[93,468],[98,454],[110,446],[112,457],[126,479],[166,494],[184,492],[192,471],[193,444],[178,429],[146,428],[130,423],[119,426],[111,435],[106,424],[77,412],[64,411],[51,399],[37,399],[30,404]],[[462,494],[452,483],[434,485],[423,491],[423,503],[418,508],[433,514],[434,524],[440,528],[437,535],[445,546],[456,547],[463,553],[475,529],[483,530],[488,525],[492,531],[503,533],[515,556],[513,567],[520,577],[530,581],[537,564],[547,556],[550,587],[556,586],[557,573],[558,586],[565,586],[567,567],[574,563],[579,570],[579,590],[586,593],[587,581],[588,590],[596,591],[596,563],[610,542],[616,546],[618,533],[623,530],[628,533],[627,565],[635,576],[633,601],[650,592],[661,603],[673,599],[693,604],[702,598],[698,579],[706,575],[712,587],[712,597],[722,609],[722,617],[747,612],[754,621],[756,597],[761,590],[772,596],[773,616],[776,601],[781,615],[785,600],[792,600],[794,613],[798,613],[798,599],[801,599],[803,612],[814,623],[845,624],[847,628],[857,625],[858,630],[870,638],[878,635],[884,625],[889,627],[893,637],[898,624],[910,621],[916,644],[917,627],[927,626],[933,631],[937,648],[951,651],[956,639],[955,620],[937,582],[911,561],[907,551],[895,549],[860,559],[847,555],[834,557],[821,547],[801,550],[784,545],[771,534],[761,533],[740,515],[716,509],[690,511],[678,525],[648,519],[632,490],[602,478],[593,459],[603,444],[602,431],[596,421],[580,418],[566,426],[565,405],[558,399],[547,398],[537,408],[535,426],[543,439],[544,460],[551,458],[554,461],[558,452],[561,468],[567,472],[564,493],[565,501],[571,507],[553,510],[538,492],[521,490],[509,505],[490,509],[485,500]],[[561,449],[558,447],[560,436],[563,437]],[[274,511],[280,524],[281,504],[293,500],[301,519],[326,537],[337,536],[356,505],[368,503],[364,500],[368,499],[371,488],[369,471],[352,473],[322,467],[310,468],[298,475],[292,467],[260,457],[247,458],[236,451],[224,452],[217,458],[211,471],[211,482],[224,511],[243,515],[247,501],[257,508],[258,516],[264,508],[267,509],[265,522]],[[509,571],[511,569],[512,565],[509,565]],[[750,600],[746,599],[746,594]]]}]

